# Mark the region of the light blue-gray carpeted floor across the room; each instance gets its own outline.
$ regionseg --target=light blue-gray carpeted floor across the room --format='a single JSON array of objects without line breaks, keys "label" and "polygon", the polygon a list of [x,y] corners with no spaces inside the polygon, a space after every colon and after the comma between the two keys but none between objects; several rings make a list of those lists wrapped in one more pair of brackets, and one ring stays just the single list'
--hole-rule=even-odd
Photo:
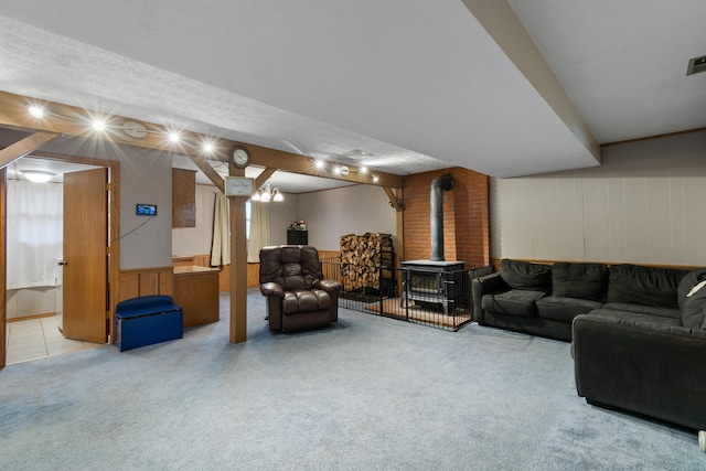
[{"label": "light blue-gray carpeted floor across the room", "polygon": [[576,395],[569,344],[342,310],[248,341],[221,322],[0,372],[2,470],[697,470],[692,431]]}]

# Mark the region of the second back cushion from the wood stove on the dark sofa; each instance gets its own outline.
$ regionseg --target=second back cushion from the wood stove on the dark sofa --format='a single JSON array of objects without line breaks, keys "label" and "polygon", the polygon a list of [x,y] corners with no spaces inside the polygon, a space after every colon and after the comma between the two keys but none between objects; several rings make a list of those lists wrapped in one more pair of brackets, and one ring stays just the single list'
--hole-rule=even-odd
[{"label": "second back cushion from the wood stove on the dark sofa", "polygon": [[608,288],[605,264],[556,263],[552,266],[552,295],[603,301]]}]

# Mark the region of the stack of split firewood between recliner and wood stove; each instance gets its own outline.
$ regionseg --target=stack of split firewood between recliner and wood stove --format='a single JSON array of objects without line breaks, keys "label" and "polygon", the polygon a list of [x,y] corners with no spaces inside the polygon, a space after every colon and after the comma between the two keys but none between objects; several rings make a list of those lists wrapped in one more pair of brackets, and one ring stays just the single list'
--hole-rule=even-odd
[{"label": "stack of split firewood between recliner and wood stove", "polygon": [[378,267],[392,267],[393,263],[393,239],[389,234],[341,236],[341,276],[347,290],[378,289]]}]

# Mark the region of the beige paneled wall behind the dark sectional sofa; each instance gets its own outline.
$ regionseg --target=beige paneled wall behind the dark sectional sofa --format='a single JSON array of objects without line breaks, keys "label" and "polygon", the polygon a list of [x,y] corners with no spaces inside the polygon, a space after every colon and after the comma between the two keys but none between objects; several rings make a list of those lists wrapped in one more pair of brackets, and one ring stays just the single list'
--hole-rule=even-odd
[{"label": "beige paneled wall behind the dark sectional sofa", "polygon": [[603,164],[491,182],[493,257],[706,265],[706,131],[603,148]]}]

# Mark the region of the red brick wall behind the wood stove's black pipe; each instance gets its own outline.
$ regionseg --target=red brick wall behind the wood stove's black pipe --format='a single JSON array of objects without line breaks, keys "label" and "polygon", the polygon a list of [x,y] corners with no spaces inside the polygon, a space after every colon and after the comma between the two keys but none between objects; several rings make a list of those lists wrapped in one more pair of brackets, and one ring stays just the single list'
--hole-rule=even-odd
[{"label": "red brick wall behind the wood stove's black pipe", "polygon": [[463,260],[466,267],[488,265],[489,178],[458,167],[405,176],[404,259],[431,258],[431,181],[446,173],[453,178],[453,188],[443,192],[443,258]]}]

